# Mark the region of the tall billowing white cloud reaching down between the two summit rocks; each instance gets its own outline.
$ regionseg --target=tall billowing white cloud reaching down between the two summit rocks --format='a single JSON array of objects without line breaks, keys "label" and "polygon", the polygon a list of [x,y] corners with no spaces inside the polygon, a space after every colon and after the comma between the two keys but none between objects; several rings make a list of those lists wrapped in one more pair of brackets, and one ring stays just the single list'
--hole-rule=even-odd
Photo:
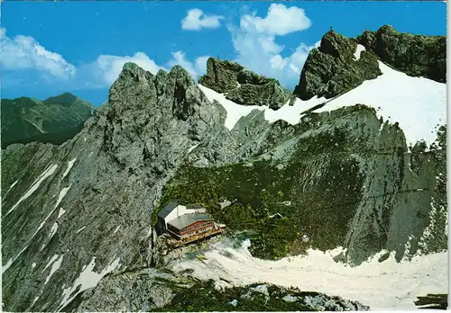
[{"label": "tall billowing white cloud reaching down between the two summit rocks", "polygon": [[277,44],[276,36],[303,31],[310,25],[303,9],[294,6],[287,8],[283,4],[272,4],[265,18],[255,13],[246,14],[242,16],[239,28],[228,26],[238,55],[235,61],[292,87],[299,81],[308,52],[317,48],[320,41],[313,46],[300,43],[294,51],[288,52],[284,46]]}]

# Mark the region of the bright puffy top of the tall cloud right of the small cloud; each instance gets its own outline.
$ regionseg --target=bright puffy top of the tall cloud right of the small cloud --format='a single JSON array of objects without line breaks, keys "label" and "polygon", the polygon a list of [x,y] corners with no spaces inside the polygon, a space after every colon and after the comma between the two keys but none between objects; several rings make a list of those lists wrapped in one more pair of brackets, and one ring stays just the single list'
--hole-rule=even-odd
[{"label": "bright puffy top of the tall cloud right of the small cloud", "polygon": [[248,31],[264,32],[269,35],[283,36],[294,31],[303,31],[310,27],[304,9],[296,6],[287,8],[283,4],[271,4],[266,17],[246,14],[241,18],[240,27]]}]

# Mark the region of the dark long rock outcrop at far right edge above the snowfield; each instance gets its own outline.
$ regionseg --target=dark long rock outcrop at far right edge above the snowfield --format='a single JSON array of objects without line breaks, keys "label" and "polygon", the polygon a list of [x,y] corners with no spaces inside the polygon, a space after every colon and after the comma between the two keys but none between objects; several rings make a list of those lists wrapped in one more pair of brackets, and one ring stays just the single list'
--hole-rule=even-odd
[{"label": "dark long rock outcrop at far right edge above the snowfield", "polygon": [[378,31],[364,31],[357,42],[407,75],[446,83],[446,36],[400,33],[384,25]]}]

